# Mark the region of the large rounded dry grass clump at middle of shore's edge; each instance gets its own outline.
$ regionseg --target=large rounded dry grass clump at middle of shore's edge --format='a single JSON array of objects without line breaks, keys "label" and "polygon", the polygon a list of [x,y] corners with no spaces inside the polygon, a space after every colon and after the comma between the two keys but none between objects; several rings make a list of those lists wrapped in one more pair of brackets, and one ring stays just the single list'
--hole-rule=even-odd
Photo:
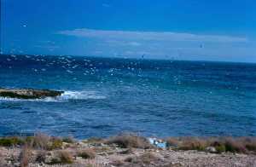
[{"label": "large rounded dry grass clump at middle of shore's edge", "polygon": [[135,135],[135,134],[122,134],[114,136],[106,142],[107,144],[117,144],[119,147],[123,148],[143,148],[148,149],[154,147],[151,145],[143,136]]}]

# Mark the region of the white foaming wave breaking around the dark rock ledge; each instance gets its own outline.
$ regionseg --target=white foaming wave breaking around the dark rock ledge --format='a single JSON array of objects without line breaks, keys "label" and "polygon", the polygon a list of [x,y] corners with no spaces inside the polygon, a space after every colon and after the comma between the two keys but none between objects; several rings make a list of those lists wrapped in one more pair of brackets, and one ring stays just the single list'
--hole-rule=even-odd
[{"label": "white foaming wave breaking around the dark rock ledge", "polygon": [[43,101],[43,102],[67,102],[72,100],[101,100],[106,99],[105,95],[101,95],[96,91],[64,91],[61,96],[58,97],[46,97],[44,99],[16,99],[9,97],[0,97],[0,101]]}]

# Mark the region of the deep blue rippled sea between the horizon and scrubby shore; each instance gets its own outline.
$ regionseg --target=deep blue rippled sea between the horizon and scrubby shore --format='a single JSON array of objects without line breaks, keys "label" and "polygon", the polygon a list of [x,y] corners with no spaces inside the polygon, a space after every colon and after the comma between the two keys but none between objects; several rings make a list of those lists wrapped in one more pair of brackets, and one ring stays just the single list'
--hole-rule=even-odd
[{"label": "deep blue rippled sea between the horizon and scrubby shore", "polygon": [[0,135],[256,135],[256,64],[0,55],[0,87],[65,91],[0,98]]}]

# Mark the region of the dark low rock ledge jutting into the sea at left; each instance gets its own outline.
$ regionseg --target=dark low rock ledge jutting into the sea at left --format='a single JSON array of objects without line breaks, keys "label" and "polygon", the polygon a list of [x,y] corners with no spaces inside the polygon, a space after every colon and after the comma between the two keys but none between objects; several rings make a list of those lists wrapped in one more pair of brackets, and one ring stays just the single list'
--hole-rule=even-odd
[{"label": "dark low rock ledge jutting into the sea at left", "polygon": [[64,91],[49,89],[1,89],[0,96],[18,99],[43,99],[46,97],[56,97]]}]

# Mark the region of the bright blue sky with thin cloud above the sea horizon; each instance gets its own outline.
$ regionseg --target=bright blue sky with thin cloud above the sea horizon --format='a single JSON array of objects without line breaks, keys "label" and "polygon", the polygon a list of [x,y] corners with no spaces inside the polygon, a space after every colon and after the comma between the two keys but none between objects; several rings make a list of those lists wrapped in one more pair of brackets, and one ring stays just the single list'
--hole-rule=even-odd
[{"label": "bright blue sky with thin cloud above the sea horizon", "polygon": [[255,0],[0,0],[1,52],[256,62]]}]

